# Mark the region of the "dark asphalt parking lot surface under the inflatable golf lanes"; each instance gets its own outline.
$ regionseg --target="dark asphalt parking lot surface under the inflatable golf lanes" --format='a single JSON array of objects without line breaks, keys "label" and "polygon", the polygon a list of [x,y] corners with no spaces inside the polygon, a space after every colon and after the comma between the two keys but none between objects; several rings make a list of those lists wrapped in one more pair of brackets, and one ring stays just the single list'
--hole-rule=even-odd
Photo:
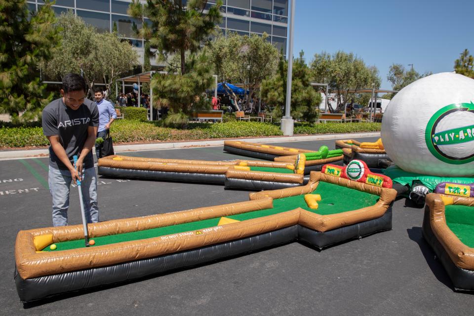
[{"label": "dark asphalt parking lot surface under the inflatable golf lanes", "polygon": [[[374,141],[376,138],[361,138]],[[334,149],[334,140],[279,143]],[[222,147],[121,153],[150,158],[242,158]],[[251,158],[249,158],[251,159]],[[421,234],[423,208],[395,201],[393,230],[322,251],[294,242],[116,286],[19,302],[19,230],[51,226],[48,158],[0,161],[0,315],[472,315],[474,293],[453,285]],[[98,178],[101,221],[232,203],[221,185]],[[71,189],[69,223],[80,224]]]}]

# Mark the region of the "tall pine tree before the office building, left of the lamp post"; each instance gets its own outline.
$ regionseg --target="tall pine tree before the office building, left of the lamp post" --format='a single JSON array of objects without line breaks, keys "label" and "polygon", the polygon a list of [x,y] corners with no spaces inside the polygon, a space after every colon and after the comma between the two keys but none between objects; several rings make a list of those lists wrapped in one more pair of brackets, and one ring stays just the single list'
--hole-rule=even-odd
[{"label": "tall pine tree before the office building, left of the lamp post", "polygon": [[220,22],[219,7],[222,5],[218,0],[204,13],[207,0],[188,0],[185,5],[183,2],[147,0],[142,4],[132,0],[127,10],[131,16],[142,19],[146,16],[151,21],[151,25],[144,22],[143,27],[136,30],[139,37],[156,48],[162,60],[174,58],[178,61],[178,64],[169,63],[172,66],[168,67],[167,75],[155,74],[151,87],[154,107],[168,107],[170,113],[180,119],[206,106],[202,94],[212,86],[212,75],[207,54],[199,51],[201,42]]}]

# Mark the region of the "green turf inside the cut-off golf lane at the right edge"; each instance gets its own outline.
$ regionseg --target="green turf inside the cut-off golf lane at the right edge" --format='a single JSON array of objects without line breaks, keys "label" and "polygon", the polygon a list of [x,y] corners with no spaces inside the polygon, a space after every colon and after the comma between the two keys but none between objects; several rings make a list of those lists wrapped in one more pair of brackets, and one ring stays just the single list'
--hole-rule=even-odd
[{"label": "green turf inside the cut-off golf lane at the right edge", "polygon": [[474,207],[446,205],[446,224],[462,243],[474,248]]}]

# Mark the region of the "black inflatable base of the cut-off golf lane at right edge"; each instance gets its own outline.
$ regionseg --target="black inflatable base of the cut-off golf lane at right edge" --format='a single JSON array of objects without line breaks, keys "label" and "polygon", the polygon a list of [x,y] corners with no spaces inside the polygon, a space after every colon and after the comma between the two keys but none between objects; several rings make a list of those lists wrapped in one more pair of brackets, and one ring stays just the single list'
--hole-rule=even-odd
[{"label": "black inflatable base of the cut-off golf lane at right edge", "polygon": [[474,271],[459,268],[451,260],[446,250],[444,250],[444,247],[436,238],[435,234],[433,234],[430,224],[430,210],[428,209],[428,206],[425,208],[422,232],[423,237],[433,248],[449,278],[453,282],[454,289],[457,291],[474,291]]}]

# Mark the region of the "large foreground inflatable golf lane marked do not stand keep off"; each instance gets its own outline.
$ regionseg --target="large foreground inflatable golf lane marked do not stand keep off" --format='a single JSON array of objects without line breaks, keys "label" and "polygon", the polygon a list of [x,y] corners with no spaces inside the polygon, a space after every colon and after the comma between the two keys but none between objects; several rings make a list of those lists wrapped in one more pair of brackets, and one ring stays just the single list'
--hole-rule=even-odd
[{"label": "large foreground inflatable golf lane marked do not stand keep off", "polygon": [[89,224],[90,247],[81,225],[20,231],[18,294],[28,302],[291,241],[323,248],[390,230],[390,179],[366,168],[354,181],[346,171],[327,165],[305,186],[252,193],[245,202]]}]

